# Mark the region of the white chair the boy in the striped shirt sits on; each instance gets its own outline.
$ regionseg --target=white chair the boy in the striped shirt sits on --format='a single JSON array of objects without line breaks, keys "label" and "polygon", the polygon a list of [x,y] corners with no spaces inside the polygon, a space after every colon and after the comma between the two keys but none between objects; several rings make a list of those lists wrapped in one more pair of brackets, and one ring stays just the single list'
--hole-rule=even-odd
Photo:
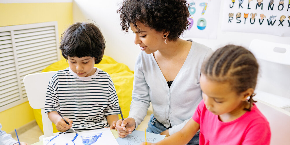
[{"label": "white chair the boy in the striped shirt sits on", "polygon": [[[44,137],[54,135],[52,131],[52,122],[49,120],[47,113],[44,113],[44,104],[48,83],[55,72],[57,71],[28,74],[23,78],[23,83],[30,106],[33,109],[41,109],[44,135],[39,137],[39,141],[42,141]],[[58,133],[55,133],[55,135],[57,134]]]}]

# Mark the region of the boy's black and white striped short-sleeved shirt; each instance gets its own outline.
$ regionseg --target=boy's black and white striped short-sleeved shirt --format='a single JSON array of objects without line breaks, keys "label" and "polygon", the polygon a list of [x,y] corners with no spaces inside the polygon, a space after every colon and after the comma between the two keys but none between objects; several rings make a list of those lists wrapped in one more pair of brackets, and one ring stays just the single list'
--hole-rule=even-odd
[{"label": "boy's black and white striped short-sleeved shirt", "polygon": [[120,114],[112,79],[96,68],[92,76],[79,77],[68,67],[57,71],[48,84],[45,112],[55,111],[73,120],[78,131],[108,127],[106,116]]}]

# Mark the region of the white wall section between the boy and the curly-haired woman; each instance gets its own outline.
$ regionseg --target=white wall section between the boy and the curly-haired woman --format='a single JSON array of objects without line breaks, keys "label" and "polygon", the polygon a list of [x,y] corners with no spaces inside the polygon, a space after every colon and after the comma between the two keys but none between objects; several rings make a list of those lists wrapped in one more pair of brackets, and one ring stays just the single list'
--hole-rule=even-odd
[{"label": "white wall section between the boy and the curly-haired woman", "polygon": [[[73,2],[73,20],[95,21],[102,30],[107,47],[105,55],[111,56],[119,63],[126,64],[134,70],[135,59],[140,47],[134,44],[133,34],[121,29],[120,14],[117,13],[120,0],[75,0]],[[91,22],[91,21],[88,21]]]}]

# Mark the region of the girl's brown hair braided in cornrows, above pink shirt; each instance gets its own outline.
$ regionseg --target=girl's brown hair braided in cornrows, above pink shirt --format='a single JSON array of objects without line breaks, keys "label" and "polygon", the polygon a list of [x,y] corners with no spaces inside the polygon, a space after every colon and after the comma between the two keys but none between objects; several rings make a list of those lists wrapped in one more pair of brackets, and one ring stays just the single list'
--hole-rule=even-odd
[{"label": "girl's brown hair braided in cornrows, above pink shirt", "polygon": [[[242,46],[226,45],[209,58],[202,66],[202,74],[207,78],[219,81],[230,82],[232,89],[237,93],[242,93],[249,88],[255,89],[257,83],[259,65],[255,56]],[[253,107],[253,93],[248,102],[251,111]]]}]

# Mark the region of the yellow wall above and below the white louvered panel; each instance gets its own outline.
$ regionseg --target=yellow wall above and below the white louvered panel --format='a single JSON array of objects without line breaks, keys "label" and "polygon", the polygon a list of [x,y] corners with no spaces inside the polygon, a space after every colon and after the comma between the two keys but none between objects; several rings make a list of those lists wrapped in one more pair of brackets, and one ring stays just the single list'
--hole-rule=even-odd
[{"label": "yellow wall above and below the white louvered panel", "polygon": [[[0,3],[0,27],[57,21],[59,35],[73,23],[73,3]],[[28,102],[0,112],[2,130],[19,128],[34,120]]]}]

